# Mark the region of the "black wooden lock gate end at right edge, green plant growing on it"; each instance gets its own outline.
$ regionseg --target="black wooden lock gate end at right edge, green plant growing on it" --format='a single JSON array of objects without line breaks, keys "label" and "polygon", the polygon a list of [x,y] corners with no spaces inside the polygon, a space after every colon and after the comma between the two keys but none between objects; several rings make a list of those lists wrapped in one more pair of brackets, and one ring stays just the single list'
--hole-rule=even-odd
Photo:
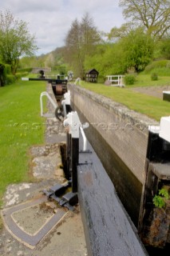
[{"label": "black wooden lock gate end at right edge, green plant growing on it", "polygon": [[[170,118],[164,120],[167,129],[162,137],[161,126],[151,127],[148,132],[146,179],[138,227],[145,245],[160,248],[170,243]],[[164,194],[167,194],[166,198]]]}]

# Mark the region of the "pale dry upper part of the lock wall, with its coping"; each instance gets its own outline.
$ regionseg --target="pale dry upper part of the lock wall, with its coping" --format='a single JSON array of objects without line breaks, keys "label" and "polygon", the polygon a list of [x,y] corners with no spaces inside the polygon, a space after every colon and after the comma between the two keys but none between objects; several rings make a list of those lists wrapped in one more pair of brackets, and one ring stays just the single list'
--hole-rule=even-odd
[{"label": "pale dry upper part of the lock wall, with its coping", "polygon": [[105,142],[143,184],[148,126],[158,123],[80,86],[69,85],[68,88],[73,106],[85,115],[89,129],[93,126],[105,138]]}]

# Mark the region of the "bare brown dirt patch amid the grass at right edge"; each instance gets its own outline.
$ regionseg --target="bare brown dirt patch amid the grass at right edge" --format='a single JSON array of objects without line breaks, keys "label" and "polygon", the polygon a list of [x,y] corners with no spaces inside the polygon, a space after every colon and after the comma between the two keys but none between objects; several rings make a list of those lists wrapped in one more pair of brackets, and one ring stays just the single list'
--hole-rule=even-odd
[{"label": "bare brown dirt patch amid the grass at right edge", "polygon": [[136,87],[132,90],[141,94],[147,94],[156,98],[163,98],[163,91],[170,90],[170,86],[150,86],[150,87]]}]

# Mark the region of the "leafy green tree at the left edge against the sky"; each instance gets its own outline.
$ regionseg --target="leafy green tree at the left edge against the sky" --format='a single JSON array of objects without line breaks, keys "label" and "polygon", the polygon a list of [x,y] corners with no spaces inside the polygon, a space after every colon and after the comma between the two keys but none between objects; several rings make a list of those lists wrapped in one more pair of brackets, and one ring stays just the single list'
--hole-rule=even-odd
[{"label": "leafy green tree at the left edge against the sky", "polygon": [[31,35],[27,23],[17,20],[10,10],[0,12],[0,55],[2,61],[10,64],[12,73],[18,69],[19,58],[31,56],[38,50],[34,35]]}]

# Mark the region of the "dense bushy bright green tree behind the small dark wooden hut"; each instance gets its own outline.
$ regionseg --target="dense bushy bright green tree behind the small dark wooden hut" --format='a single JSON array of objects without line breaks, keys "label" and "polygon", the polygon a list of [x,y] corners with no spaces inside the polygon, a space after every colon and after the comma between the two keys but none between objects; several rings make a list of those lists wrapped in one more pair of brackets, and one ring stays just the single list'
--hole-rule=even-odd
[{"label": "dense bushy bright green tree behind the small dark wooden hut", "polygon": [[85,58],[85,67],[93,66],[105,78],[109,74],[140,72],[152,60],[154,41],[143,28],[131,30],[117,42],[97,46],[96,54]]}]

